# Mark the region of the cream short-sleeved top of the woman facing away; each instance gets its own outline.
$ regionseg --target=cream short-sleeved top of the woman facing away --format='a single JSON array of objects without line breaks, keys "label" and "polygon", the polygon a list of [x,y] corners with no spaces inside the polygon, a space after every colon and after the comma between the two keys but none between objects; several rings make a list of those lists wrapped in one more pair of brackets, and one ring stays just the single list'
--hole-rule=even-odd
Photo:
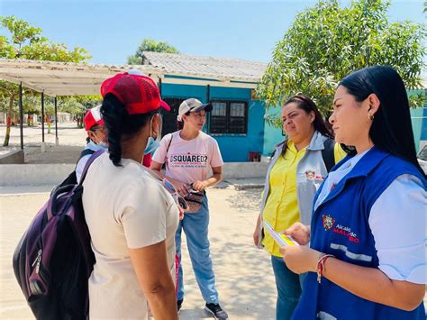
[{"label": "cream short-sleeved top of the woman facing away", "polygon": [[166,239],[168,266],[175,275],[174,199],[141,163],[124,159],[122,164],[114,167],[105,153],[91,165],[83,183],[83,206],[96,259],[89,279],[90,319],[149,318],[128,248]]}]

